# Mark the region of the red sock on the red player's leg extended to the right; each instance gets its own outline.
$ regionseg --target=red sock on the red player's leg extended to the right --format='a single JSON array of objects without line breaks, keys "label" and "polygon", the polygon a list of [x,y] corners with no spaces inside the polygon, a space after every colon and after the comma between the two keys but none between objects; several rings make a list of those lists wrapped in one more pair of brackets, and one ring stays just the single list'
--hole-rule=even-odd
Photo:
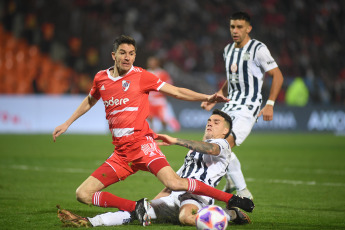
[{"label": "red sock on the red player's leg extended to the right", "polygon": [[188,179],[188,192],[191,192],[193,194],[209,196],[216,200],[224,201],[225,203],[227,203],[229,199],[233,196],[230,193],[226,193],[218,189],[215,189],[201,181],[190,179],[190,178],[187,178],[187,179]]}]

